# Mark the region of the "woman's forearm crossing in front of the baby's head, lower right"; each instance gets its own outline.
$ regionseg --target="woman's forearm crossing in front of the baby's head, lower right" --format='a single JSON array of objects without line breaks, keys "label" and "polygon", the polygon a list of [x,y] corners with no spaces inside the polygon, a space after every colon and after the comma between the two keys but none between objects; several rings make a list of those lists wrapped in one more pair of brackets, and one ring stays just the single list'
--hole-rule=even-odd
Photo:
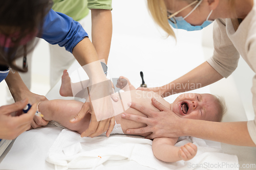
[{"label": "woman's forearm crossing in front of the baby's head, lower right", "polygon": [[256,147],[247,130],[247,122],[208,122],[205,120],[183,119],[181,136],[194,136],[207,140]]}]

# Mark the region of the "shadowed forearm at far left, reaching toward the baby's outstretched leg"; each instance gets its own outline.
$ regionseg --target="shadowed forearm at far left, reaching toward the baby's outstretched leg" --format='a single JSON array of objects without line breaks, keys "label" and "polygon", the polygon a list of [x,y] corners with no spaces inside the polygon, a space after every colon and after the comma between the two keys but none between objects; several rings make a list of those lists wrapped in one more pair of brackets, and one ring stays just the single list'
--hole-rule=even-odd
[{"label": "shadowed forearm at far left, reaching toward the baby's outstretched leg", "polygon": [[29,91],[22,78],[20,78],[18,71],[16,71],[14,74],[12,72],[9,72],[5,81],[15,102],[22,99],[22,92]]}]

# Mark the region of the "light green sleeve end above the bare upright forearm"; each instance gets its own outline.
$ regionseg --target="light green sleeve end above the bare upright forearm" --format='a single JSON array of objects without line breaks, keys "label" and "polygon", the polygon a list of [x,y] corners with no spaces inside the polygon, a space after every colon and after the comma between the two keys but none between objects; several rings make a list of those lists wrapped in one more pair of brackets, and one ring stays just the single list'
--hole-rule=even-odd
[{"label": "light green sleeve end above the bare upright forearm", "polygon": [[112,0],[88,0],[88,8],[112,10]]}]

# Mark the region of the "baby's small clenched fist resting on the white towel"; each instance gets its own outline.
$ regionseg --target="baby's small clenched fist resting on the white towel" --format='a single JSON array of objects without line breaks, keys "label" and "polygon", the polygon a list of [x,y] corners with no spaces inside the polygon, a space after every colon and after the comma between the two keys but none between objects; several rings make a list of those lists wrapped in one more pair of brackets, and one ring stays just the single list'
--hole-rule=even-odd
[{"label": "baby's small clenched fist resting on the white towel", "polygon": [[182,160],[190,160],[197,154],[197,146],[193,143],[187,143],[184,146],[181,146],[178,154]]}]

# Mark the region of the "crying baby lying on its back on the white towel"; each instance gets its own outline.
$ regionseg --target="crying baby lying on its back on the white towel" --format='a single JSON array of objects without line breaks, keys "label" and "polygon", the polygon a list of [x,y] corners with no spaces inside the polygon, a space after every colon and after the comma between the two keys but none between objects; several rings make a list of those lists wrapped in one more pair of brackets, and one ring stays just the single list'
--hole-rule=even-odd
[{"label": "crying baby lying on its back on the white towel", "polygon": [[[129,84],[129,88],[124,85],[125,83]],[[84,85],[86,83],[83,83]],[[219,104],[217,103],[216,97],[211,94],[196,94],[196,93],[187,93],[180,95],[172,104],[166,102],[160,95],[155,92],[146,92],[141,90],[136,90],[133,85],[129,82],[128,79],[124,77],[120,77],[118,80],[117,87],[123,89],[125,92],[120,93],[122,101],[125,101],[126,98],[131,94],[132,102],[137,104],[145,104],[146,108],[155,110],[159,113],[159,110],[155,108],[152,103],[152,96],[154,96],[153,100],[160,101],[163,103],[164,107],[170,108],[175,114],[179,117],[190,118],[190,119],[204,119],[204,120],[217,120],[219,118],[218,111],[216,108],[219,108]],[[60,92],[62,95],[71,95],[70,92],[70,78],[65,70],[62,76],[62,85]],[[132,90],[132,91],[129,91]],[[66,91],[66,93],[65,93]],[[183,106],[183,110],[181,109],[182,104],[186,104]],[[80,122],[71,124],[69,122],[70,117],[73,117],[77,110],[80,110],[82,107],[81,102],[73,101],[73,100],[52,100],[52,101],[44,101],[39,105],[39,111],[44,115],[44,119],[47,121],[55,120],[60,123],[62,126],[77,131],[81,134],[89,127],[91,115],[87,114]],[[131,103],[128,103],[131,105]],[[117,103],[113,102],[113,107],[119,107]],[[129,108],[126,110],[134,115],[141,115],[146,117],[146,115],[142,114],[136,109]],[[117,124],[120,124],[122,127],[122,131],[125,133],[129,128],[139,128],[145,127],[145,124],[134,122],[131,120],[126,120],[121,118],[121,114],[115,116],[115,120]],[[127,134],[127,133],[125,133]],[[151,133],[140,134],[141,136],[147,136]],[[107,136],[110,133],[106,133]],[[193,143],[187,143],[182,147],[175,147],[175,143],[177,142],[177,138],[166,138],[160,137],[155,138],[153,140],[152,149],[154,155],[162,161],[165,162],[176,162],[179,160],[190,160],[197,153],[197,147]],[[172,153],[172,154],[170,154]]]}]

